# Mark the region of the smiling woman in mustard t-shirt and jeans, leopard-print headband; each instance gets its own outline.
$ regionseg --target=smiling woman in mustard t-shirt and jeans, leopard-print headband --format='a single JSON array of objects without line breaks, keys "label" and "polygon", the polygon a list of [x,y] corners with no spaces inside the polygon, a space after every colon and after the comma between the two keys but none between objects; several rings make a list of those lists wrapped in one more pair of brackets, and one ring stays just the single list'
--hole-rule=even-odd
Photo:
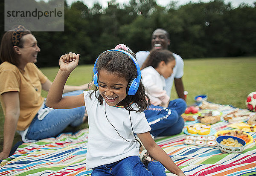
[{"label": "smiling woman in mustard t-shirt and jeans, leopard-print headband", "polygon": [[[17,26],[3,35],[0,102],[5,120],[0,160],[9,156],[16,130],[23,141],[39,140],[56,136],[67,126],[75,127],[84,121],[85,107],[54,110],[45,105],[41,90],[48,91],[52,82],[35,65],[38,52],[35,36],[24,26]],[[64,92],[77,95],[83,89],[88,89],[88,84],[65,86]]]}]

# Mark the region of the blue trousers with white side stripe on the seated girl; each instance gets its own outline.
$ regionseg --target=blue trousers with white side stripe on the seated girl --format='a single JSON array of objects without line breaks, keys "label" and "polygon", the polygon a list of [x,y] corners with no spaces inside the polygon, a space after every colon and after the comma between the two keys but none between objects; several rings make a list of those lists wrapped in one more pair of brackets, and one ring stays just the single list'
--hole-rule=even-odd
[{"label": "blue trousers with white side stripe on the seated girl", "polygon": [[184,120],[180,115],[185,110],[186,102],[181,98],[170,101],[167,108],[150,105],[144,111],[148,124],[151,127],[150,133],[155,137],[181,133],[184,127]]}]

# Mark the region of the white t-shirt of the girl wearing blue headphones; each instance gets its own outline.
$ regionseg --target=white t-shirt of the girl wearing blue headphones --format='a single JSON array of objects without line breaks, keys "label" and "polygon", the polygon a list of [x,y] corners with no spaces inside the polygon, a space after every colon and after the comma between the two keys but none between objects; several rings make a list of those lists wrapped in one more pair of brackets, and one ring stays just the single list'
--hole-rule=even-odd
[{"label": "white t-shirt of the girl wearing blue headphones", "polygon": [[[90,92],[92,91],[84,92],[84,103],[88,113],[89,124],[86,153],[87,169],[117,162],[128,156],[138,156],[139,149],[137,147],[139,147],[139,144],[136,147],[136,142],[128,142],[135,141],[131,122],[134,133],[150,131],[151,128],[148,125],[145,114],[130,111],[130,122],[129,111],[124,107],[111,107],[105,103],[105,100],[102,105],[99,105],[99,101],[94,94],[90,99]],[[99,92],[96,92],[96,95],[98,96]],[[132,106],[135,108],[134,104]],[[114,127],[120,136],[127,141],[119,136]]]}]

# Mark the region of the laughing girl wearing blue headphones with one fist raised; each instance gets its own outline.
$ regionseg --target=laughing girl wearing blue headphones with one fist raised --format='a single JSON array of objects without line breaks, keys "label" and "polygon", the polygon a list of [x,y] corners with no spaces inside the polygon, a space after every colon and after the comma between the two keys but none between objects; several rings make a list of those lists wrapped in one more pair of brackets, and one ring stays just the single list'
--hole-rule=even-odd
[{"label": "laughing girl wearing blue headphones with one fist raised", "polygon": [[[93,68],[95,89],[62,97],[65,82],[78,61],[79,54],[70,52],[61,56],[60,69],[46,103],[48,107],[60,109],[86,106],[89,123],[86,164],[87,169],[93,169],[91,175],[163,176],[166,167],[170,172],[184,176],[151,138],[151,128],[143,113],[148,103],[134,54],[122,49],[103,52]],[[145,163],[148,169],[140,162],[140,146],[134,133],[155,159],[144,154],[143,162],[151,160]]]}]

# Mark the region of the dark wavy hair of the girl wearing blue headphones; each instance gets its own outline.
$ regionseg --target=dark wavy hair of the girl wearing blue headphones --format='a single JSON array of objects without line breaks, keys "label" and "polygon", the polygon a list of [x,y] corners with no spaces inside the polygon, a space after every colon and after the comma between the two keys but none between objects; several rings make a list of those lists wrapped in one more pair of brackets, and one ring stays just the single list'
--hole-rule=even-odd
[{"label": "dark wavy hair of the girl wearing blue headphones", "polygon": [[[131,53],[131,52],[130,52]],[[131,53],[134,58],[136,58],[136,55],[134,53]],[[123,77],[128,81],[128,83],[131,81],[132,78],[137,78],[137,68],[127,54],[123,52],[118,51],[108,51],[104,52],[97,60],[97,70],[98,75],[99,72],[102,69],[107,70],[108,72],[115,73],[119,77]],[[99,96],[96,95],[96,91],[99,89],[99,87],[95,87],[94,91],[91,92],[91,96],[94,94],[96,98],[99,100],[99,104],[103,104],[103,97],[99,94]],[[150,100],[149,97],[145,94],[145,87],[143,86],[142,82],[140,81],[139,88],[135,95],[127,95],[125,99],[123,99],[122,104],[124,104],[124,107],[126,110],[136,111],[136,112],[143,112],[146,110],[149,106]],[[134,110],[133,107],[131,107],[131,103],[134,102],[134,104],[139,108],[139,110]]]}]

